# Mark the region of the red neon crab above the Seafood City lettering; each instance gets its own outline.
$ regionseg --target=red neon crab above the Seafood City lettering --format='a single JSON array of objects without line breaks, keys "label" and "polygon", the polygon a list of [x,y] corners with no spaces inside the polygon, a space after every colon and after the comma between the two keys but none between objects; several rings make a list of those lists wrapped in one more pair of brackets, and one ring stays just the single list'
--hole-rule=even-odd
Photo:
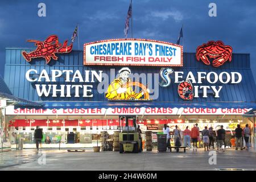
[{"label": "red neon crab above the Seafood City lettering", "polygon": [[224,46],[224,43],[220,40],[214,42],[209,41],[207,44],[197,47],[196,59],[202,60],[204,64],[210,65],[209,58],[213,58],[213,67],[220,67],[226,61],[232,59],[232,47]]}]

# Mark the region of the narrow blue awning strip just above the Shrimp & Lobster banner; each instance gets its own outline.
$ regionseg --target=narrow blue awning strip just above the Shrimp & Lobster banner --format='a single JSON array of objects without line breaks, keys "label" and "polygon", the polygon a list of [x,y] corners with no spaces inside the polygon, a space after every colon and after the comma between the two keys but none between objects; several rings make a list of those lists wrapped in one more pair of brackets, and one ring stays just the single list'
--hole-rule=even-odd
[{"label": "narrow blue awning strip just above the Shrimp & Lobster banner", "polygon": [[158,108],[180,108],[180,107],[191,107],[191,108],[246,108],[246,109],[256,109],[255,102],[160,102],[160,101],[92,101],[92,102],[40,102],[44,106],[15,106],[15,108],[36,108],[36,109],[101,109],[101,108],[116,108],[116,107],[158,107]]}]

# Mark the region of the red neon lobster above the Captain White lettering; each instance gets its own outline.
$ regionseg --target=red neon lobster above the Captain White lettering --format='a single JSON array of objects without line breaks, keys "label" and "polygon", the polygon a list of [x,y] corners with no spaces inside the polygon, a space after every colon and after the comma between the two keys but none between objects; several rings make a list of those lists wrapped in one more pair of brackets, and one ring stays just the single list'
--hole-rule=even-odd
[{"label": "red neon lobster above the Captain White lettering", "polygon": [[68,40],[65,40],[63,46],[59,43],[59,39],[57,35],[50,35],[44,42],[39,40],[27,40],[27,42],[34,42],[35,46],[38,46],[35,51],[27,53],[25,51],[22,52],[22,56],[26,61],[30,62],[32,58],[44,57],[46,59],[46,64],[51,61],[51,58],[57,60],[58,57],[55,53],[68,53],[72,51],[73,44],[67,46]]}]

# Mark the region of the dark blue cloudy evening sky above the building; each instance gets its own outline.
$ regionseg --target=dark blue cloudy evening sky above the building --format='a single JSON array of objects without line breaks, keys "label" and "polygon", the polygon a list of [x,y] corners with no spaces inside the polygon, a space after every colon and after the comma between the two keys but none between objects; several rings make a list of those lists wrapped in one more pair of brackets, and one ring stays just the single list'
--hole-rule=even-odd
[{"label": "dark blue cloudy evening sky above the building", "polygon": [[[38,4],[46,3],[46,17],[38,16]],[[217,17],[208,15],[209,3],[217,4]],[[44,40],[56,34],[70,41],[80,24],[83,43],[124,38],[129,0],[94,1],[0,1],[0,74],[3,76],[6,47],[34,47],[27,39]],[[195,52],[208,40],[222,40],[233,52],[250,53],[256,69],[256,1],[133,0],[134,38],[177,41],[184,31],[184,51]],[[130,34],[129,34],[130,37]],[[77,49],[77,41],[75,49]],[[254,77],[256,78],[255,74]]]}]

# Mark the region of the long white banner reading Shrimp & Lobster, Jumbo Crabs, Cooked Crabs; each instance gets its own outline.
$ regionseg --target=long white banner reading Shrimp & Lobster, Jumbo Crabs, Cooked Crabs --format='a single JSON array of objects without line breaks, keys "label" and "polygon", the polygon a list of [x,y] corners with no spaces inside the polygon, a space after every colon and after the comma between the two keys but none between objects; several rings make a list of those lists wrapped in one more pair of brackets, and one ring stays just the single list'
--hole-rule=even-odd
[{"label": "long white banner reading Shrimp & Lobster, Jumbo Crabs, Cooked Crabs", "polygon": [[251,108],[195,108],[177,107],[115,107],[101,109],[14,109],[8,106],[6,115],[242,115],[250,111]]}]

